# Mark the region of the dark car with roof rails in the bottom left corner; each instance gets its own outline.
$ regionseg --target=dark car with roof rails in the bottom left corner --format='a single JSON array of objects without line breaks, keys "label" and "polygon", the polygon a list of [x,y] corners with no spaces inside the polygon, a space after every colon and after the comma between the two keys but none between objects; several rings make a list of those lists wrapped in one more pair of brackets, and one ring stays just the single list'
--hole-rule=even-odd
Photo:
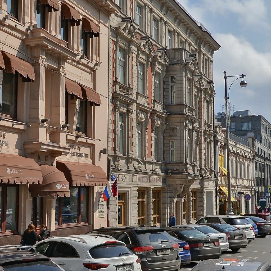
[{"label": "dark car with roof rails in the bottom left corner", "polygon": [[33,252],[24,250],[1,250],[0,270],[3,271],[64,271],[60,266],[49,258]]}]

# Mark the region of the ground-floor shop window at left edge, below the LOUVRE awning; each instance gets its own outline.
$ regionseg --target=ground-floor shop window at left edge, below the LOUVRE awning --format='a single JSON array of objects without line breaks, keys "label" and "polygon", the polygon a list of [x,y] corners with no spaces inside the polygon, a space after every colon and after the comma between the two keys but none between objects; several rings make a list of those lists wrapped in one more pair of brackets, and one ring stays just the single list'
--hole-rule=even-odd
[{"label": "ground-floor shop window at left edge, below the LOUVRE awning", "polygon": [[0,232],[16,232],[18,230],[19,186],[0,185]]}]

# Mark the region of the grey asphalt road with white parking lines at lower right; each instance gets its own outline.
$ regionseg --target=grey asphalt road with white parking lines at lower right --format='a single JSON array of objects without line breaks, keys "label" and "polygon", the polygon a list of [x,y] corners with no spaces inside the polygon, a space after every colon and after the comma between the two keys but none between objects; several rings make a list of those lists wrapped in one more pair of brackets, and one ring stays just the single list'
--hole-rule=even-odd
[{"label": "grey asphalt road with white parking lines at lower right", "polygon": [[[222,253],[223,259],[226,258],[238,258],[238,259],[254,259],[262,262],[271,263],[271,235],[266,237],[256,237],[254,241],[248,244],[247,247],[240,249],[238,252],[232,252],[227,250]],[[181,270],[187,271],[191,270],[197,263],[192,262],[188,265],[185,265]]]}]

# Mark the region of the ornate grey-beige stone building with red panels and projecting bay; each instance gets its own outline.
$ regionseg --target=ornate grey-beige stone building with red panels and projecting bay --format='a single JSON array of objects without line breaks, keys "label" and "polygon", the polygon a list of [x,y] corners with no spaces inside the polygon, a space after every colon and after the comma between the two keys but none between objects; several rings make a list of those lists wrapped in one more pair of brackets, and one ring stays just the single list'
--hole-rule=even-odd
[{"label": "ornate grey-beige stone building with red panels and projecting bay", "polygon": [[118,176],[109,225],[165,227],[215,212],[213,54],[208,30],[175,0],[115,0],[108,155]]}]

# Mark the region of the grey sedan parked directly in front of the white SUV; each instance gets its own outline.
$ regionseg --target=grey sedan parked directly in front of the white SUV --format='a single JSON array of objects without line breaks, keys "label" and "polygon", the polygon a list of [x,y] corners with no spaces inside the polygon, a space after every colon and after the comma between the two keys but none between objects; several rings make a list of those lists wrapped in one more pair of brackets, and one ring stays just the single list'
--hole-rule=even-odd
[{"label": "grey sedan parked directly in front of the white SUV", "polygon": [[246,232],[240,231],[232,225],[226,223],[205,223],[200,225],[207,225],[221,233],[225,233],[228,237],[229,248],[234,252],[247,246]]}]

